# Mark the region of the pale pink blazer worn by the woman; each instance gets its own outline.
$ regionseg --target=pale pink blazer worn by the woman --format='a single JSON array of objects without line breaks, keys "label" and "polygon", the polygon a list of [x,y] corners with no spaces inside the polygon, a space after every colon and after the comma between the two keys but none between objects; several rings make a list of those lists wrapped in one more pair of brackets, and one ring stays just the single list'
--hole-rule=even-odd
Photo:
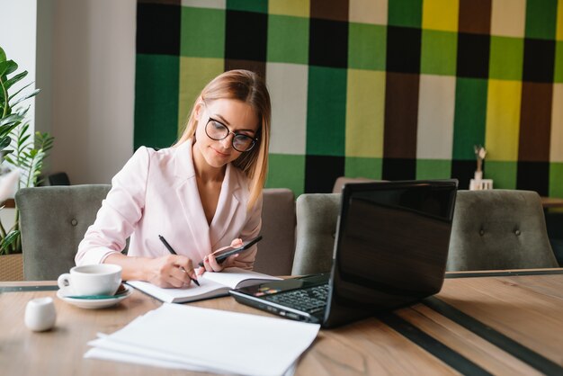
[{"label": "pale pink blazer worn by the woman", "polygon": [[[158,239],[162,235],[195,266],[234,238],[246,240],[259,234],[262,198],[252,210],[246,210],[248,199],[246,175],[229,164],[217,211],[208,225],[193,169],[192,142],[158,151],[139,148],[113,177],[112,190],[78,246],[76,264],[103,263],[108,255],[121,252],[127,237],[128,255],[169,255]],[[237,266],[252,268],[256,251],[253,246],[239,255]]]}]

